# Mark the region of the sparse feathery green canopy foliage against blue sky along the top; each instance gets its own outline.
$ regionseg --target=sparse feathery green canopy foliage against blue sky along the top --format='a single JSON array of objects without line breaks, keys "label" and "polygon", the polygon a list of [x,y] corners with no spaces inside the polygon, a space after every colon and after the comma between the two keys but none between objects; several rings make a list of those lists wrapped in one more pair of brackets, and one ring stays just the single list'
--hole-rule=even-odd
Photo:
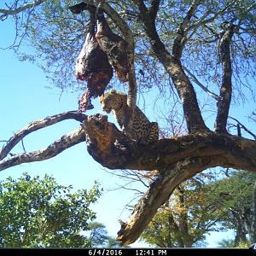
[{"label": "sparse feathery green canopy foliage against blue sky along the top", "polygon": [[[10,1],[17,3],[17,0]],[[19,1],[19,5],[26,1]],[[149,7],[149,2],[144,1]],[[81,84],[74,78],[74,63],[84,43],[88,29],[88,12],[73,15],[67,7],[77,3],[73,0],[49,1],[39,4],[34,9],[26,9],[15,15],[17,40],[32,46],[34,52],[20,54],[21,60],[36,61],[54,84],[64,90],[76,88]],[[166,49],[172,52],[172,43],[177,36],[177,27],[189,10],[192,1],[160,1],[156,19],[157,31]],[[11,4],[9,4],[11,5]],[[139,19],[136,4],[130,0],[112,1],[111,6],[131,27],[136,40],[136,67],[143,69],[144,76],[137,73],[140,90],[158,86],[162,93],[173,93],[169,76],[150,49],[148,38]],[[240,25],[240,32],[234,36],[232,58],[236,69],[233,94],[241,97],[241,84],[247,84],[243,74],[253,77],[255,58],[255,6],[253,0],[235,1],[201,1],[199,8],[189,24],[188,42],[183,52],[183,65],[198,76],[209,90],[218,90],[221,78],[221,66],[218,60],[218,39],[222,32],[224,20],[233,20]],[[115,32],[119,29],[108,19]],[[120,33],[120,32],[119,32]],[[19,42],[16,42],[16,46]],[[31,51],[30,51],[31,52]],[[43,60],[43,63],[42,63]],[[154,67],[151,68],[151,67]],[[115,80],[112,81],[115,83]],[[167,90],[167,91],[166,91]]]}]

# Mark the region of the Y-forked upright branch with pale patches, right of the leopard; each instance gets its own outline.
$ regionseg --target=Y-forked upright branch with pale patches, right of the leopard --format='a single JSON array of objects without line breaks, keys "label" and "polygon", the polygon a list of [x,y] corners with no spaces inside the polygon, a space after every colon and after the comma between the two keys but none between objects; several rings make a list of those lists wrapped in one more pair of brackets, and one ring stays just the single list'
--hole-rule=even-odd
[{"label": "Y-forked upright branch with pale patches, right of the leopard", "polygon": [[181,25],[177,31],[177,37],[175,38],[172,47],[172,55],[170,55],[170,53],[166,50],[165,45],[161,42],[156,31],[154,19],[152,19],[152,17],[148,14],[148,9],[143,1],[133,0],[133,2],[137,4],[141,20],[143,21],[144,29],[148,34],[154,54],[166,68],[167,73],[170,74],[173,84],[177,89],[178,95],[183,102],[183,112],[189,132],[207,130],[207,126],[202,119],[201,111],[198,106],[195,90],[189,81],[189,78],[184,73],[180,60],[183,52],[183,45],[186,41],[186,32],[184,29],[188,26],[189,20],[195,14],[195,9],[197,8],[199,1],[194,1],[192,3],[187,15],[181,22]]}]

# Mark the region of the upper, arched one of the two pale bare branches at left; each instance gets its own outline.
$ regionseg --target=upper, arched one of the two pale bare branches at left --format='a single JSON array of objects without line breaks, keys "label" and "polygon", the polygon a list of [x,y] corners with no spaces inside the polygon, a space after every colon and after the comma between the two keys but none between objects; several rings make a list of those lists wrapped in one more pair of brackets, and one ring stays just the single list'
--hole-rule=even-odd
[{"label": "upper, arched one of the two pale bare branches at left", "polygon": [[0,160],[3,160],[9,152],[15,148],[17,143],[26,137],[28,134],[32,133],[33,131],[38,131],[44,127],[49,125],[55,125],[66,119],[76,119],[79,122],[83,122],[87,116],[84,113],[79,113],[77,111],[68,111],[64,113],[58,113],[53,116],[46,117],[45,119],[39,119],[33,121],[32,123],[23,127],[20,131],[16,132],[13,137],[9,139],[9,141],[3,146],[2,150],[0,151]]}]

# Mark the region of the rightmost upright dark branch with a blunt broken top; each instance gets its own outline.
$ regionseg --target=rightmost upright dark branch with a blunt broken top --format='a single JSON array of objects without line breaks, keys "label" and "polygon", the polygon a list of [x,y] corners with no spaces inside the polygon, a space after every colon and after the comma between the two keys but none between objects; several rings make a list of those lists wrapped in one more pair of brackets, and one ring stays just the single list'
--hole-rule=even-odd
[{"label": "rightmost upright dark branch with a blunt broken top", "polygon": [[230,111],[230,102],[232,96],[232,67],[231,67],[231,57],[230,57],[230,43],[233,37],[235,26],[231,23],[223,24],[224,33],[220,38],[219,42],[219,54],[220,61],[223,66],[223,77],[222,84],[220,88],[217,106],[218,112],[215,122],[216,132],[227,132],[227,120]]}]

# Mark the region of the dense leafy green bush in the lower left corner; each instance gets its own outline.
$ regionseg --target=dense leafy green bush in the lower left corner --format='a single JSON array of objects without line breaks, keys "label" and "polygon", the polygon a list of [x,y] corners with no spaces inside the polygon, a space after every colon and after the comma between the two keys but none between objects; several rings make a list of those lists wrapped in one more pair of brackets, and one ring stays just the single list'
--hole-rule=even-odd
[{"label": "dense leafy green bush in the lower left corner", "polygon": [[[72,191],[53,177],[26,173],[0,183],[0,247],[100,247],[108,241],[102,224],[91,223],[99,185]],[[88,233],[90,236],[85,236]]]}]

